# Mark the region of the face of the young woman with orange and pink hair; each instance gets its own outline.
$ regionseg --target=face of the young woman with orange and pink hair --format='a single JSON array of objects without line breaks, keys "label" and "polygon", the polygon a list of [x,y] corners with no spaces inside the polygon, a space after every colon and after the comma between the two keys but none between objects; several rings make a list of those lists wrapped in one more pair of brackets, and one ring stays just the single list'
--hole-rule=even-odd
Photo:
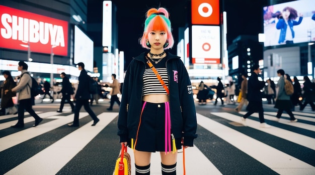
[{"label": "face of the young woman with orange and pink hair", "polygon": [[161,50],[168,38],[168,34],[165,31],[149,31],[148,40],[151,45],[151,49]]}]

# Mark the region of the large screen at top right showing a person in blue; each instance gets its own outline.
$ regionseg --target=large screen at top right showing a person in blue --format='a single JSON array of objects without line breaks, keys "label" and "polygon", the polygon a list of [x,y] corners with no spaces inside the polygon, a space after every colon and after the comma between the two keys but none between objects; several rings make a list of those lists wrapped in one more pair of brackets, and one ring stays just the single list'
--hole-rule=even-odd
[{"label": "large screen at top right showing a person in blue", "polygon": [[300,0],[264,7],[265,47],[315,41],[315,2]]}]

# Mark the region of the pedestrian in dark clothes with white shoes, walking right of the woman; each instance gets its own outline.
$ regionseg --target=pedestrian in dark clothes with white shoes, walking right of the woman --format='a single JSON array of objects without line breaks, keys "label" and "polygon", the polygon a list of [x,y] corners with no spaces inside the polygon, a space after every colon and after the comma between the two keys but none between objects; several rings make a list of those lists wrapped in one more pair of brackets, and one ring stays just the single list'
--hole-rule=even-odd
[{"label": "pedestrian in dark clothes with white shoes, walking right of the woman", "polygon": [[248,95],[247,99],[249,101],[249,104],[246,107],[246,110],[248,112],[241,117],[241,123],[244,126],[247,126],[246,124],[246,118],[251,116],[254,112],[258,112],[259,115],[259,121],[260,121],[260,127],[269,128],[270,125],[265,122],[264,118],[264,108],[263,108],[263,101],[262,97],[263,94],[261,90],[265,87],[264,81],[259,81],[258,74],[261,73],[261,70],[259,68],[259,65],[253,65],[252,67],[252,75],[248,80]]}]

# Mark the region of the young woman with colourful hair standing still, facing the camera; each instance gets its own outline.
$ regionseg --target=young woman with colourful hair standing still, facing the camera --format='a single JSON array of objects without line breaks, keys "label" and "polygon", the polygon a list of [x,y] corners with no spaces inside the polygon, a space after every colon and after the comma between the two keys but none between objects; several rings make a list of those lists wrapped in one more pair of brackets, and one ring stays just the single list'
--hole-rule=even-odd
[{"label": "young woman with colourful hair standing still, facing the camera", "polygon": [[155,151],[161,154],[162,174],[176,174],[181,141],[184,147],[189,147],[197,137],[187,70],[179,57],[165,51],[174,45],[171,29],[166,9],[148,10],[139,41],[149,52],[134,57],[126,71],[118,135],[121,144],[134,150],[135,174],[150,174],[150,156]]}]

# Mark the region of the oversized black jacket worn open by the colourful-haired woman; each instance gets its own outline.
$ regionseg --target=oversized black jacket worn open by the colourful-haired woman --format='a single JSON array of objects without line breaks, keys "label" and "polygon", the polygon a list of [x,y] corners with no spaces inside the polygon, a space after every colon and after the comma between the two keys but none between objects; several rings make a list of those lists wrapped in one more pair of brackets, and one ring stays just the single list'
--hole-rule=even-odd
[{"label": "oversized black jacket worn open by the colourful-haired woman", "polygon": [[[136,138],[142,105],[145,54],[133,58],[126,72],[118,118],[120,142]],[[175,138],[184,137],[185,146],[193,146],[193,140],[197,137],[197,120],[191,82],[180,58],[170,53],[167,55],[171,132]]]}]

